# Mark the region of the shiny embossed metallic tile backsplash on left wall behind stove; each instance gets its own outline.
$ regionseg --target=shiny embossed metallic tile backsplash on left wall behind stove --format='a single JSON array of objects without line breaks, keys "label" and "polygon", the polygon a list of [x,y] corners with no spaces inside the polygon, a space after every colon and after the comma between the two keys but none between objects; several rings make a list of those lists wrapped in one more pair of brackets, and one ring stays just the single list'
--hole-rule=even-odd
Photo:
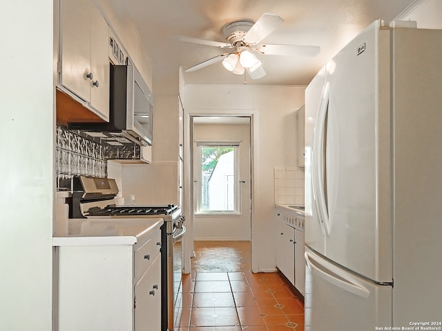
[{"label": "shiny embossed metallic tile backsplash on left wall behind stove", "polygon": [[57,126],[57,188],[71,187],[75,175],[106,177],[106,148]]}]

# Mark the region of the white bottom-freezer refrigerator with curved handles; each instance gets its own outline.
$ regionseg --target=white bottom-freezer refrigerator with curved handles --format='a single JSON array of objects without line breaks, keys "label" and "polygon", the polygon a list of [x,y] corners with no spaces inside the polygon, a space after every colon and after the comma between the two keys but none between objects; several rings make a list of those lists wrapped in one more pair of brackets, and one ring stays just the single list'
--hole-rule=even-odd
[{"label": "white bottom-freezer refrigerator with curved handles", "polygon": [[442,31],[412,25],[305,91],[305,330],[441,330]]}]

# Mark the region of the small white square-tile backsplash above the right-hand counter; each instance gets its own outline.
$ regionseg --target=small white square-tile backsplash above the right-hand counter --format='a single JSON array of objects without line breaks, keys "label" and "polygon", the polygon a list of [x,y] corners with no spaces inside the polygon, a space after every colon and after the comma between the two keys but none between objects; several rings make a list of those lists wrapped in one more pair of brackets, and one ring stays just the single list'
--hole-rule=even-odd
[{"label": "small white square-tile backsplash above the right-hand counter", "polygon": [[275,204],[304,205],[304,170],[275,167],[273,170]]}]

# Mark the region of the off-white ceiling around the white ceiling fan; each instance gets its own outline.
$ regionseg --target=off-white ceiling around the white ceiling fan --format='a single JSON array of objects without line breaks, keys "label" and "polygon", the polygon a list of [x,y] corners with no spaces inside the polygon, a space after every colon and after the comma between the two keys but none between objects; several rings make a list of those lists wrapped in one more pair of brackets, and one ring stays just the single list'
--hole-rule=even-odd
[{"label": "off-white ceiling around the white ceiling fan", "polygon": [[[231,21],[277,14],[284,22],[262,42],[320,46],[315,57],[257,54],[267,75],[249,84],[305,86],[345,44],[375,19],[386,23],[416,0],[126,0],[153,65],[154,82],[177,79],[185,70],[226,50],[180,41],[179,36],[227,42],[222,28]],[[224,69],[222,62],[184,72],[186,83],[242,84],[244,75]],[[164,84],[163,84],[164,85]]]}]

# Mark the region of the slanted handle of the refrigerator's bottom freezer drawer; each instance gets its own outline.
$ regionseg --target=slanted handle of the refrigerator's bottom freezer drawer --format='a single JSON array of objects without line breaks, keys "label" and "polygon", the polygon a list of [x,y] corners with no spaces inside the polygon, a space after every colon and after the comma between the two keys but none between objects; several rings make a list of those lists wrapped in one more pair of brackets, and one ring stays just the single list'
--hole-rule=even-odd
[{"label": "slanted handle of the refrigerator's bottom freezer drawer", "polygon": [[328,263],[325,260],[323,260],[324,263],[321,263],[321,261],[315,259],[314,255],[310,254],[309,252],[305,252],[305,261],[307,263],[307,267],[312,273],[316,272],[319,277],[328,283],[336,285],[338,288],[342,288],[343,290],[353,293],[358,297],[367,299],[370,296],[369,290],[364,288],[363,285],[357,283],[357,281],[351,277],[351,274],[347,272],[345,272],[345,274],[340,272],[339,268],[332,265],[332,263]]}]

